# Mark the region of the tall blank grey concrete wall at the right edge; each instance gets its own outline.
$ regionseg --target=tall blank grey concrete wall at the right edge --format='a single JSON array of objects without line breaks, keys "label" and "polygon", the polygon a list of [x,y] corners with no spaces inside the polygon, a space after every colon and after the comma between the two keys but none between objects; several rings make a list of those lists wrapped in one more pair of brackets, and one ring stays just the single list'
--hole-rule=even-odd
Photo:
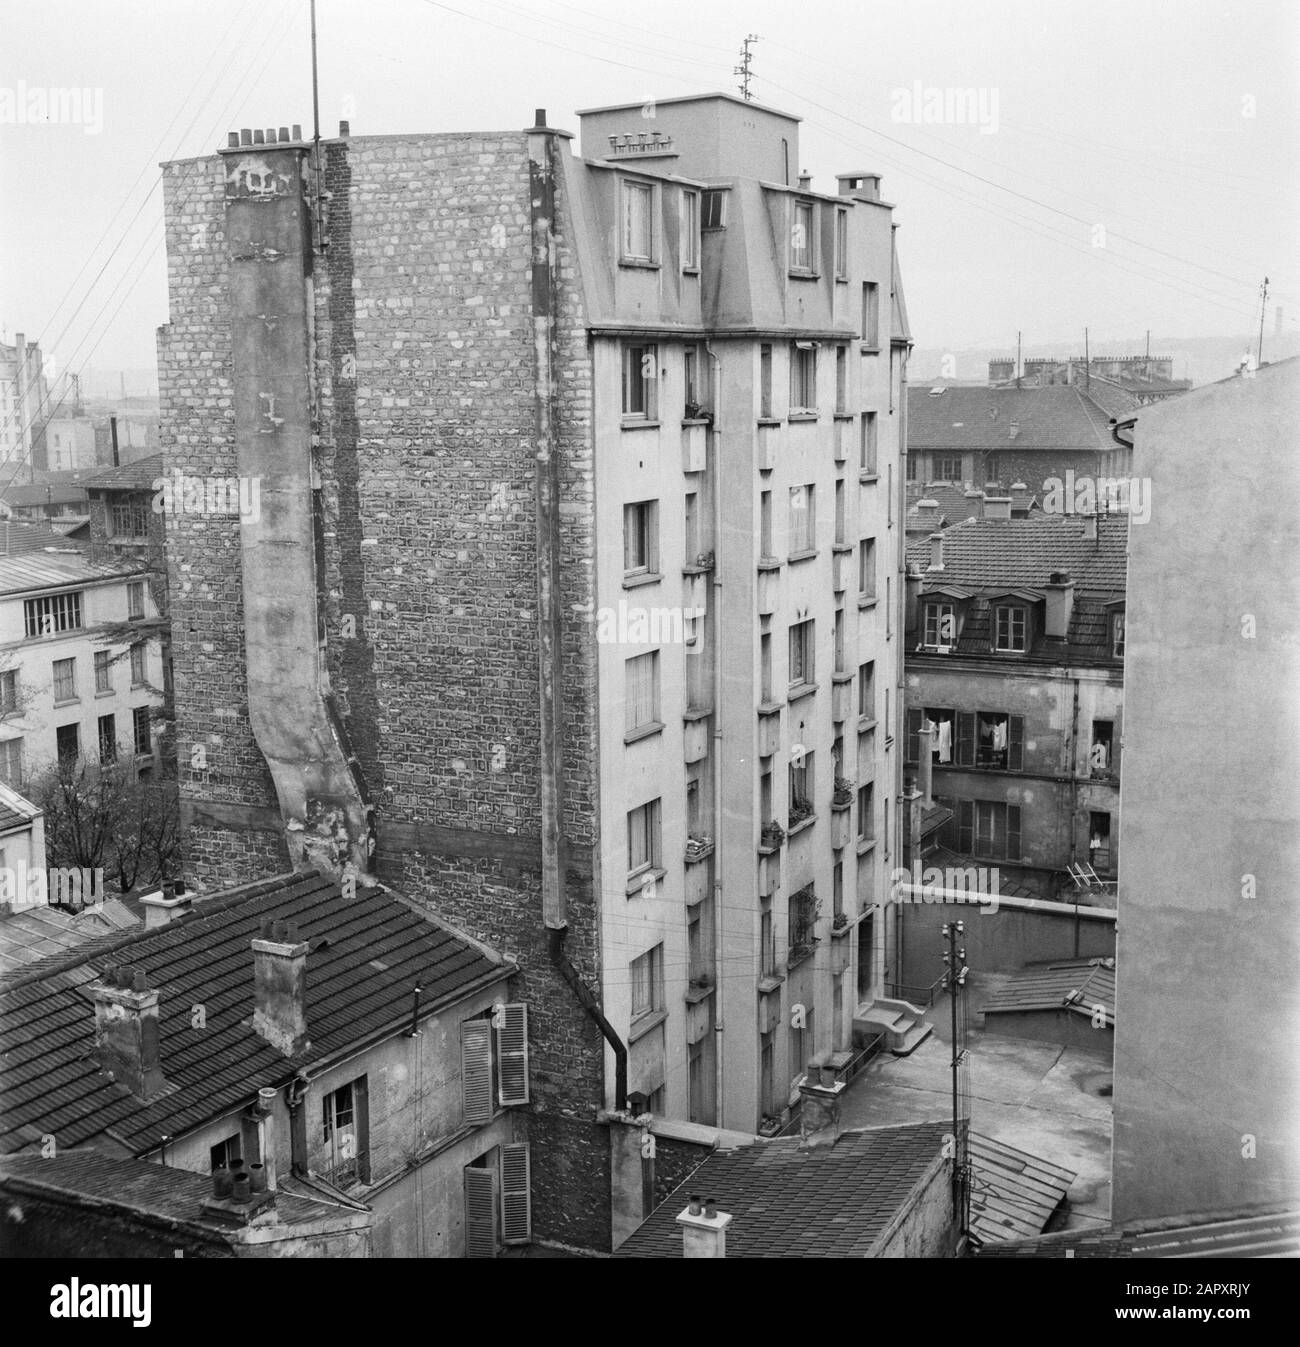
[{"label": "tall blank grey concrete wall at the right edge", "polygon": [[[1137,422],[1129,540],[1114,1219],[1300,1177],[1300,361]],[[1246,521],[1246,523],[1243,523]]]}]

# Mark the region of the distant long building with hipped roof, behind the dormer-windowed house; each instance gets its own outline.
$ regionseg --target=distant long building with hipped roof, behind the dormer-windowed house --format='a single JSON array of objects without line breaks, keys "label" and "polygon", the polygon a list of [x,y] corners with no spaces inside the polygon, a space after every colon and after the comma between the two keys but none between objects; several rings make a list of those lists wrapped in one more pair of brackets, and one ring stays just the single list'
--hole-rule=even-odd
[{"label": "distant long building with hipped roof, behind the dormer-windowed house", "polygon": [[947,482],[1004,494],[1013,482],[1041,497],[1066,471],[1109,477],[1126,471],[1126,450],[1110,420],[1137,407],[1121,389],[1090,395],[1072,387],[950,387],[908,389],[908,482]]}]

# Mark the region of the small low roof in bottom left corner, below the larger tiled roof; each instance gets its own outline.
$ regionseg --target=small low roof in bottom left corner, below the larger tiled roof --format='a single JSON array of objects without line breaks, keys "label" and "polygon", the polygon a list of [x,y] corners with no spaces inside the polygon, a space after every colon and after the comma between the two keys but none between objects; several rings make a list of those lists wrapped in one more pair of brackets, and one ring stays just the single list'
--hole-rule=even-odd
[{"label": "small low roof in bottom left corner, below the larger tiled roof", "polygon": [[[50,1158],[0,1157],[0,1188],[48,1193],[74,1202],[89,1199],[97,1207],[117,1207],[168,1223],[220,1231],[222,1235],[230,1235],[237,1228],[220,1216],[201,1214],[201,1204],[212,1195],[212,1180],[206,1175],[148,1160],[119,1160],[93,1150],[62,1150]],[[356,1219],[352,1207],[338,1207],[282,1189],[275,1195],[275,1214],[276,1224],[280,1226],[300,1226],[341,1216]]]}]

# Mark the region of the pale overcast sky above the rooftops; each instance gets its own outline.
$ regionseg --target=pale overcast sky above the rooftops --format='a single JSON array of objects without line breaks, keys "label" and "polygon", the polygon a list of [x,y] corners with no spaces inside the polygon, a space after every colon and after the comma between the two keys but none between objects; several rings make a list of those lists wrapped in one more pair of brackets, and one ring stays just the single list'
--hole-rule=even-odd
[{"label": "pale overcast sky above the rooftops", "polygon": [[[318,27],[322,133],[354,135],[539,106],[577,131],[577,108],[734,92],[757,34],[753,94],[803,117],[814,185],[882,174],[925,348],[1235,335],[1265,273],[1266,331],[1274,304],[1297,331],[1296,0],[318,0]],[[0,32],[7,339],[148,370],[158,163],[310,127],[308,0],[0,0]],[[26,120],[32,90],[73,88],[81,124]],[[920,120],[947,89],[979,92],[978,124]]]}]

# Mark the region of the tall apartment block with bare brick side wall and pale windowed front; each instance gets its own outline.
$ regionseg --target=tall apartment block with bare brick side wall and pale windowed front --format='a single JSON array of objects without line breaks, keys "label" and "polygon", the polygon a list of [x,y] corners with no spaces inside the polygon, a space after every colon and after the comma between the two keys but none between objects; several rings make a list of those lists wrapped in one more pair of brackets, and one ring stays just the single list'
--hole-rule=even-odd
[{"label": "tall apartment block with bare brick side wall and pale windowed front", "polygon": [[168,473],[263,500],[166,519],[187,876],[516,958],[538,1228],[599,1246],[602,1110],[753,1130],[884,982],[908,337],[796,119],[581,119],[166,166],[160,370]]}]

